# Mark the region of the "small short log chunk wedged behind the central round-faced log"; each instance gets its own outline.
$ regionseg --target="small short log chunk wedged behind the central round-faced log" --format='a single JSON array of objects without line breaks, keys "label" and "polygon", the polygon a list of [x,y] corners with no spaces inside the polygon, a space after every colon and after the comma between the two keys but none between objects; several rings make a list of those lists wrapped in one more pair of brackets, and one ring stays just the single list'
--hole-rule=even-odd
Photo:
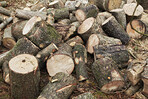
[{"label": "small short log chunk wedged behind the central round-faced log", "polygon": [[71,47],[74,47],[75,44],[77,44],[77,43],[83,44],[84,42],[83,42],[83,40],[81,39],[81,37],[75,36],[75,37],[69,39],[68,41],[66,41],[66,43],[67,43],[68,45],[70,45]]}]

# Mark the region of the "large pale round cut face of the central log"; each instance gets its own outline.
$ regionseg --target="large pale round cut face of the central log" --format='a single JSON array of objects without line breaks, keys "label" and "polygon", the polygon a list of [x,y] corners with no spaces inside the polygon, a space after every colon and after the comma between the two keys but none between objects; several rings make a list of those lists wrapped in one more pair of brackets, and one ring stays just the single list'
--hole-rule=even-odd
[{"label": "large pale round cut face of the central log", "polygon": [[74,62],[70,56],[57,54],[47,60],[47,71],[50,76],[58,72],[71,74],[74,69]]}]

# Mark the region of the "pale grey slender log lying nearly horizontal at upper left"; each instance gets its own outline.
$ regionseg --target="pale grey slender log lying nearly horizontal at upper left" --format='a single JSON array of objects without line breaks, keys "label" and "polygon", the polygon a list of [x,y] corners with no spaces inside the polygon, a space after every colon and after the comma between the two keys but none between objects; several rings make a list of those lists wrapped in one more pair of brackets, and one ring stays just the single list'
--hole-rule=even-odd
[{"label": "pale grey slender log lying nearly horizontal at upper left", "polygon": [[47,13],[46,12],[39,12],[39,11],[27,11],[27,10],[20,10],[20,9],[16,9],[16,17],[18,18],[22,18],[22,19],[30,19],[33,16],[39,16],[41,17],[43,20],[46,20],[47,18]]}]

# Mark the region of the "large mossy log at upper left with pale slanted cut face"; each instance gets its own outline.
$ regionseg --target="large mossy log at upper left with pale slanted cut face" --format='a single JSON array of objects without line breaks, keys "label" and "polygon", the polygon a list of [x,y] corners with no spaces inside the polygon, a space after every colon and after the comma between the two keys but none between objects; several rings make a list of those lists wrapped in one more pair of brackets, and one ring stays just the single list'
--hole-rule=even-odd
[{"label": "large mossy log at upper left with pale slanted cut face", "polygon": [[47,24],[40,17],[32,17],[23,28],[23,35],[27,36],[31,42],[40,48],[45,48],[50,43],[61,42],[61,35],[54,27]]}]

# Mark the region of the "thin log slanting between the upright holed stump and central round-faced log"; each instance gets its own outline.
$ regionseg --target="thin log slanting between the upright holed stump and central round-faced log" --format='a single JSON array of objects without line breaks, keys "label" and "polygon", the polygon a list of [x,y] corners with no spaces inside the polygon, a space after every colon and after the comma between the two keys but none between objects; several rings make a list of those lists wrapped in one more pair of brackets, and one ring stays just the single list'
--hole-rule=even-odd
[{"label": "thin log slanting between the upright holed stump and central round-faced log", "polygon": [[36,55],[36,58],[39,62],[39,67],[43,68],[45,66],[45,62],[48,59],[50,55],[52,55],[54,52],[58,50],[57,46],[54,43],[51,43],[46,48],[39,51]]}]

